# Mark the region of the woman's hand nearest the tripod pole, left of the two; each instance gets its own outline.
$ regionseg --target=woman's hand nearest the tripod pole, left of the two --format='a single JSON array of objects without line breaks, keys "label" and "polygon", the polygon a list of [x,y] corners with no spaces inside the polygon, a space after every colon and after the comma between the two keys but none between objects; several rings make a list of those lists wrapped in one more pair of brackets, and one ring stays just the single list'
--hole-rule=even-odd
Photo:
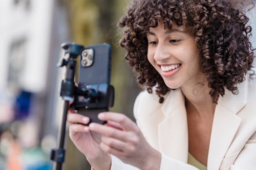
[{"label": "woman's hand nearest the tripod pole, left of the two", "polygon": [[[76,110],[69,110],[67,121],[69,136],[77,149],[82,152],[94,169],[110,169],[110,154],[100,148],[100,134],[90,131],[88,124],[90,118],[76,114]],[[108,168],[109,167],[109,168]]]}]

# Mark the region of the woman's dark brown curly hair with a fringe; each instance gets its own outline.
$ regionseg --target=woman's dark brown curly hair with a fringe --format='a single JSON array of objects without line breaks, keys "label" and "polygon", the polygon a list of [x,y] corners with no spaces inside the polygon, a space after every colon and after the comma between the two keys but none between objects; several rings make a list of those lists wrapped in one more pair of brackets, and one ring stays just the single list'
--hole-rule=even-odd
[{"label": "woman's dark brown curly hair with a fringe", "polygon": [[118,26],[124,28],[120,45],[126,49],[125,59],[134,68],[139,86],[150,93],[156,86],[160,103],[170,90],[146,57],[146,33],[163,22],[165,29],[172,29],[173,23],[184,25],[195,37],[212,102],[217,103],[224,95],[224,87],[237,94],[236,85],[245,80],[254,58],[251,27],[245,15],[250,7],[254,7],[251,1],[234,0],[133,1]]}]

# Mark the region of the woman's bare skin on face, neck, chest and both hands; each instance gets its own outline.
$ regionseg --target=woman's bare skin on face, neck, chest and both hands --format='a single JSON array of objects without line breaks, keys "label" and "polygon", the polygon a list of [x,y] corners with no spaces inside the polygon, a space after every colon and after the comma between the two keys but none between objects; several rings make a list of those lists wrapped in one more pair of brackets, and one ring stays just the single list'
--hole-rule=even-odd
[{"label": "woman's bare skin on face, neck, chest and both hands", "polygon": [[[165,30],[162,23],[150,28],[147,39],[148,61],[169,88],[181,88],[185,96],[189,152],[206,165],[216,105],[211,102],[210,89],[200,70],[197,44],[184,27],[174,25],[172,30]],[[179,64],[180,67],[167,72],[161,69],[161,66],[173,64]],[[198,82],[201,82],[200,85]],[[68,114],[70,138],[95,170],[110,169],[110,154],[140,169],[159,169],[161,154],[146,142],[130,118],[113,112],[100,113],[98,118],[108,121],[108,124],[91,123],[89,127],[83,126],[76,123],[87,124],[88,117],[75,111]]]}]

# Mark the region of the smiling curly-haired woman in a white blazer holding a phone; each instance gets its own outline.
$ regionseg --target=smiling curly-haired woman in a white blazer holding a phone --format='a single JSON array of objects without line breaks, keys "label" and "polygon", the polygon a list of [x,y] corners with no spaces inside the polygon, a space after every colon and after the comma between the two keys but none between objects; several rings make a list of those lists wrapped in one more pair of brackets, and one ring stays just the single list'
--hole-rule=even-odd
[{"label": "smiling curly-haired woman in a white blazer holding a phone", "polygon": [[[119,26],[121,46],[146,89],[137,125],[69,113],[70,137],[97,169],[256,168],[256,80],[244,1],[137,0]],[[75,111],[72,111],[75,112]],[[100,138],[96,136],[99,135]]]}]

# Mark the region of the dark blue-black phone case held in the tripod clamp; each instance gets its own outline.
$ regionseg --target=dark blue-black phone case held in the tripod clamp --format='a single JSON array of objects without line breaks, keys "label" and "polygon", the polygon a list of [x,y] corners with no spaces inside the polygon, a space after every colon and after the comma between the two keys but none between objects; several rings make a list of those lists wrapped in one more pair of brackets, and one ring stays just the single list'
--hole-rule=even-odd
[{"label": "dark blue-black phone case held in the tripod clamp", "polygon": [[[93,48],[94,51],[94,61],[89,67],[83,67],[81,65],[81,57],[79,61],[79,71],[78,71],[78,86],[87,85],[97,85],[97,84],[110,84],[111,75],[111,46],[109,44],[97,44],[92,46],[86,46],[83,48]],[[99,120],[97,118],[98,113],[108,111],[109,108],[91,108],[90,103],[88,104],[88,109],[84,107],[76,108],[79,114],[86,115],[90,117],[90,123],[100,123],[104,124],[106,122]]]}]

